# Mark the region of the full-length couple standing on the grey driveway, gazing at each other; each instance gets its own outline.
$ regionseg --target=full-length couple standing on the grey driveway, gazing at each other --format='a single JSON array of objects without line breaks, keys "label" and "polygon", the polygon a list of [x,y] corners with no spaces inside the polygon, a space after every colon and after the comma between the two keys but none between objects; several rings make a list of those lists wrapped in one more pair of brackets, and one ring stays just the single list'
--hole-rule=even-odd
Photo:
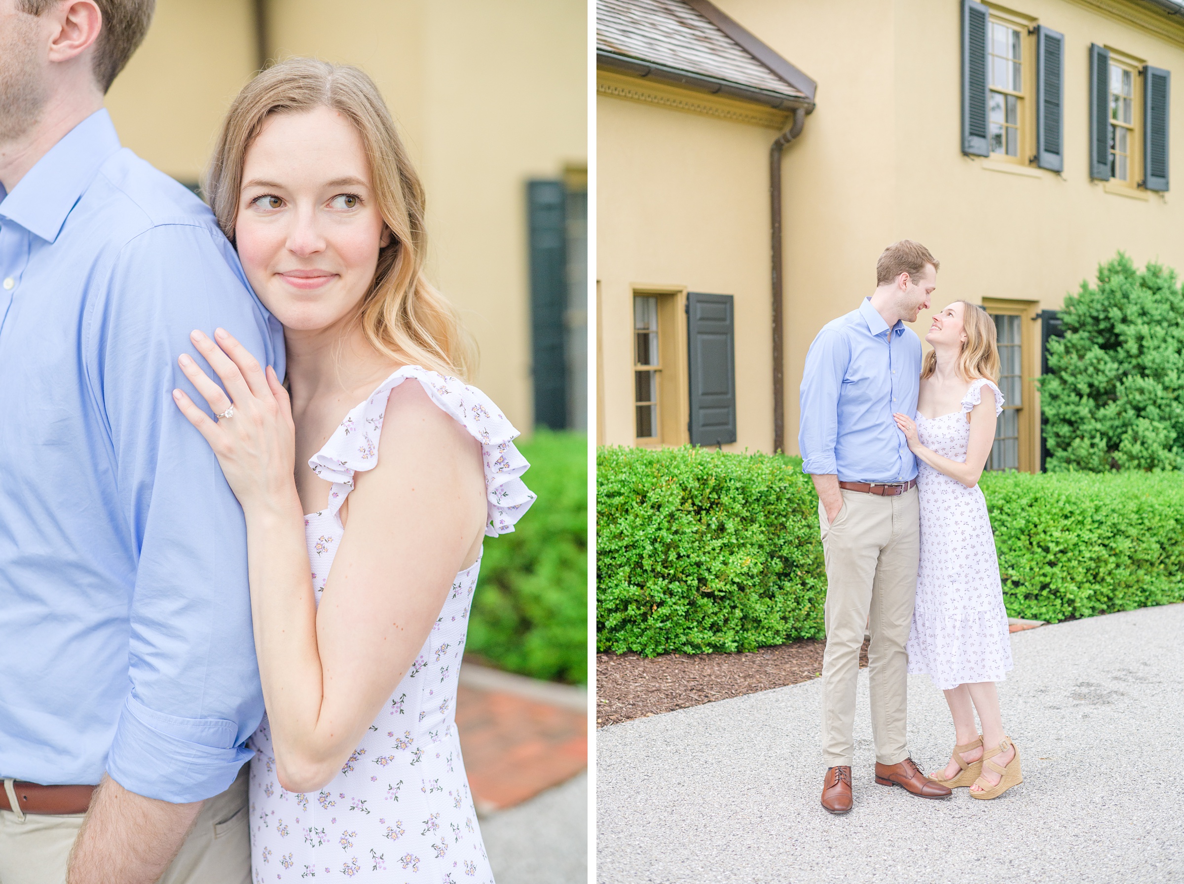
[{"label": "full-length couple standing on the grey driveway, gazing at each other", "polygon": [[[922,360],[905,323],[929,308],[938,267],[919,243],[884,250],[875,292],[818,333],[802,381],[798,441],[826,562],[822,806],[835,814],[852,806],[866,628],[876,783],[986,800],[1022,781],[995,686],[1011,645],[978,488],[1003,408],[996,330],[983,308],[955,301],[934,314]],[[933,679],[954,724],[948,764],[928,775],[907,747],[908,673]]]}]

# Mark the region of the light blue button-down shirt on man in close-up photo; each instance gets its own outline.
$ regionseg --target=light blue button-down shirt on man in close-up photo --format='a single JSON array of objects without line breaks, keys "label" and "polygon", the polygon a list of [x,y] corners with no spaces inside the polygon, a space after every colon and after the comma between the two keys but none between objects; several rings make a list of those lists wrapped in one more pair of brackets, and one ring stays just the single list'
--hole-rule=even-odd
[{"label": "light blue button-down shirt on man in close-up photo", "polygon": [[251,756],[243,511],[172,396],[217,325],[283,376],[212,213],[105,110],[0,187],[0,776],[181,802]]}]

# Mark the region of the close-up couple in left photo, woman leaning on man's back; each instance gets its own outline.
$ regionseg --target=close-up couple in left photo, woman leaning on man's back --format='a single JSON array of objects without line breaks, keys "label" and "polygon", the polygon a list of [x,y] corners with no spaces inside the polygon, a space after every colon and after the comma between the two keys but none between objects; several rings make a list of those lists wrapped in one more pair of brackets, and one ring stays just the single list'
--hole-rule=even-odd
[{"label": "close-up couple in left photo, woman leaning on man's back", "polygon": [[289,59],[211,211],[103,109],[152,9],[0,0],[0,882],[491,883],[457,676],[534,495],[419,179]]}]

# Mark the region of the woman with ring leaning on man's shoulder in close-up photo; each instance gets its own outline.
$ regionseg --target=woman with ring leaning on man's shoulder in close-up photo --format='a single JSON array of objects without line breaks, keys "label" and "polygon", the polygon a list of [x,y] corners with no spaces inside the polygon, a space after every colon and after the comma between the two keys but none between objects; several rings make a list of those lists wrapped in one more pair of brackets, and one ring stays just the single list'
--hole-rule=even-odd
[{"label": "woman with ring leaning on man's shoulder in close-up photo", "polygon": [[456,688],[482,540],[534,496],[517,432],[458,380],[419,181],[365,73],[291,59],[236,99],[207,193],[287,346],[288,388],[194,331],[225,392],[179,361],[217,420],[174,393],[246,520],[255,880],[493,882]]}]

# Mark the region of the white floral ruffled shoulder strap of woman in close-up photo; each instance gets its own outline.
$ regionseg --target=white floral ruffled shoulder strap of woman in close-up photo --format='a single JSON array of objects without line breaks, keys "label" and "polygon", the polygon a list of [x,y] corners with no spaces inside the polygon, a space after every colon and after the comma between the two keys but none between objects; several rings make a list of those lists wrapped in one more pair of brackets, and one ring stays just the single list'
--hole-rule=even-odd
[{"label": "white floral ruffled shoulder strap of woman in close-up photo", "polygon": [[481,443],[485,467],[485,536],[496,537],[514,530],[514,523],[534,503],[535,495],[522,483],[530,466],[514,445],[517,430],[497,406],[476,387],[464,381],[430,372],[419,366],[404,366],[387,378],[355,406],[329,437],[308,465],[322,479],[333,483],[329,512],[335,514],[354,489],[354,473],[373,470],[378,464],[378,443],[391,391],[406,380],[414,380],[429,398],[456,419]]}]

